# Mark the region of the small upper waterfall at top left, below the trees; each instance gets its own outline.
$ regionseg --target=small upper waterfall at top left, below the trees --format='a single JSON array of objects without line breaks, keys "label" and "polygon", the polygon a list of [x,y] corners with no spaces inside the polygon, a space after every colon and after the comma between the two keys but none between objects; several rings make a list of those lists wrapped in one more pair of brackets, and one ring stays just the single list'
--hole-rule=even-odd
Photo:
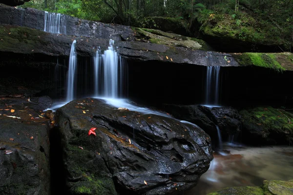
[{"label": "small upper waterfall at top left, below the trees", "polygon": [[44,31],[48,33],[66,34],[65,15],[45,11]]}]

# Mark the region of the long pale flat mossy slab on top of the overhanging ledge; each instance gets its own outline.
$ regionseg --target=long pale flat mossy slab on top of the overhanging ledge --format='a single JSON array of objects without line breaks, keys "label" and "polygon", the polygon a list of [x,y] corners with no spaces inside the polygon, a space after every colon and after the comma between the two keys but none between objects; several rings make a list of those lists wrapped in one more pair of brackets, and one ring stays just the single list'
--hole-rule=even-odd
[{"label": "long pale flat mossy slab on top of the overhanging ledge", "polygon": [[207,42],[201,39],[185,37],[174,33],[167,33],[161,30],[147,28],[132,28],[135,32],[137,40],[148,41],[156,44],[173,45],[178,47],[186,47],[192,50],[213,50]]}]

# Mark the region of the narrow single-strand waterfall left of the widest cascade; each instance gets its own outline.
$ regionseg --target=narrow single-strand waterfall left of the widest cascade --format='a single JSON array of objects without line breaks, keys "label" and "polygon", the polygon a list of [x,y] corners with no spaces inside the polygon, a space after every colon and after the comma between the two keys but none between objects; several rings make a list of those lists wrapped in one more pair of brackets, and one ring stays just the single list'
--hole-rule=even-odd
[{"label": "narrow single-strand waterfall left of the widest cascade", "polygon": [[77,66],[77,53],[75,49],[76,40],[72,42],[70,57],[69,57],[69,66],[67,73],[67,95],[66,101],[72,101],[74,99],[74,84],[75,84],[75,74],[76,74],[76,66]]}]

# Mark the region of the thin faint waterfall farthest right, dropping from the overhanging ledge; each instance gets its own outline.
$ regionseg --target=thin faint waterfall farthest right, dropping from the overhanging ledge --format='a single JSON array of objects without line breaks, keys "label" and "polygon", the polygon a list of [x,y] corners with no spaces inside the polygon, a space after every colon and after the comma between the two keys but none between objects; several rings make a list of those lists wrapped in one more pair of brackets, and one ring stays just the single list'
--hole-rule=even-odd
[{"label": "thin faint waterfall farthest right, dropping from the overhanging ledge", "polygon": [[208,66],[206,78],[206,104],[219,105],[220,66]]}]

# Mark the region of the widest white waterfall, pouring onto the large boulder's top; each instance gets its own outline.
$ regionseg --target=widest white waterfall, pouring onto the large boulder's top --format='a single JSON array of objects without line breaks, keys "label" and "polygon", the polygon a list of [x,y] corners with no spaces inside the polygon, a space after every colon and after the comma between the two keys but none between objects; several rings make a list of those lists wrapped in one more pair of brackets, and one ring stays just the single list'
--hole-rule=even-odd
[{"label": "widest white waterfall, pouring onto the large boulder's top", "polygon": [[127,82],[126,71],[124,59],[118,57],[114,49],[114,40],[110,39],[109,47],[104,54],[98,50],[94,57],[94,96],[122,97]]}]

